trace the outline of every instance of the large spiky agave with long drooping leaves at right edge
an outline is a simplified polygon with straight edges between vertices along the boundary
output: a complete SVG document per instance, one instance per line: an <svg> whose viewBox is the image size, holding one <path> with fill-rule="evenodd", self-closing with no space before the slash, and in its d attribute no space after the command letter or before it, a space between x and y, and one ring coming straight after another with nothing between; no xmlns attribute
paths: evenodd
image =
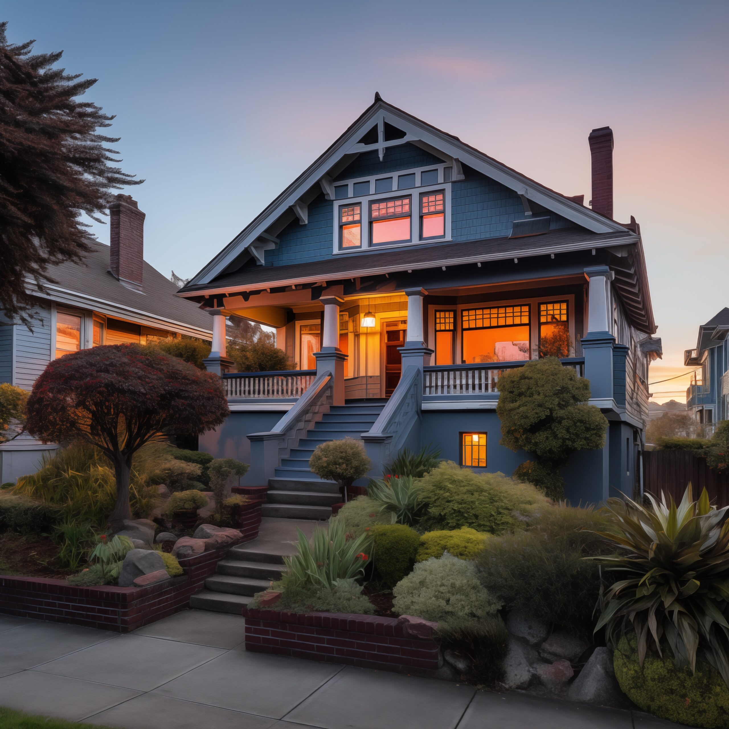
<svg viewBox="0 0 729 729"><path fill-rule="evenodd" d="M697 655L729 685L729 521L691 485L679 506L648 495L652 509L631 499L608 499L612 524L598 532L617 554L593 557L622 579L604 596L596 630L616 646L635 631L642 666L647 650L661 655L665 638L676 665L695 671Z"/></svg>

